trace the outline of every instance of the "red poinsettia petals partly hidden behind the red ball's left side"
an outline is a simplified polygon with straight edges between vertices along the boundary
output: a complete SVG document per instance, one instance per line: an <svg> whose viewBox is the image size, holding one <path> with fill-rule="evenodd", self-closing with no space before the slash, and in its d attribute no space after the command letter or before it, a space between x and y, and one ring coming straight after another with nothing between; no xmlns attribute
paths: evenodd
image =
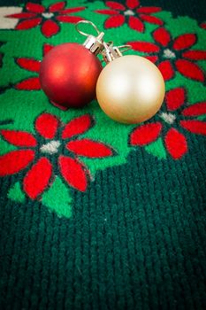
<svg viewBox="0 0 206 310"><path fill-rule="evenodd" d="M53 45L44 44L43 45L43 56L48 53L53 48ZM16 58L16 63L23 69L31 71L37 75L28 77L23 81L19 81L16 85L14 85L15 89L19 90L39 90L41 89L40 81L39 81L39 71L41 60L37 60L34 58Z"/></svg>

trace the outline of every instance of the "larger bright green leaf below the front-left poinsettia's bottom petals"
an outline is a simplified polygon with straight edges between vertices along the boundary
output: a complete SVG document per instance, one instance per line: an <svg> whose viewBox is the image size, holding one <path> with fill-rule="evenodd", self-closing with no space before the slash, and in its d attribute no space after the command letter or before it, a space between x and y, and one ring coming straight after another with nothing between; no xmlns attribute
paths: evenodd
<svg viewBox="0 0 206 310"><path fill-rule="evenodd" d="M72 198L65 183L58 177L56 177L50 189L42 195L42 204L59 216L65 216L66 218L72 216Z"/></svg>

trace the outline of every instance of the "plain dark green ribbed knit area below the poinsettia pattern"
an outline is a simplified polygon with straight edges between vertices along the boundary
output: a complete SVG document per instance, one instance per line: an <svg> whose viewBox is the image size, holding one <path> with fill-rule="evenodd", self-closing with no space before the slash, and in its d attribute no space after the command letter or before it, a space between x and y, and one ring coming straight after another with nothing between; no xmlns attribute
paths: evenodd
<svg viewBox="0 0 206 310"><path fill-rule="evenodd" d="M190 145L175 163L132 151L73 192L69 221L14 205L4 180L1 309L205 309L206 147Z"/></svg>

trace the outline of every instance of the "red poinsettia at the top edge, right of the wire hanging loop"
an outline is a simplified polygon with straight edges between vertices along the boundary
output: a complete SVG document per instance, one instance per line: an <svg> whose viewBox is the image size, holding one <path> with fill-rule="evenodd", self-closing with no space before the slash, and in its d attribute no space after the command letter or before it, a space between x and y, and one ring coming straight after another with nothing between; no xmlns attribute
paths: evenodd
<svg viewBox="0 0 206 310"><path fill-rule="evenodd" d="M144 22L151 24L163 25L163 21L152 13L160 12L162 9L156 6L142 7L138 0L126 0L126 4L119 4L115 1L106 1L109 10L97 10L100 14L110 15L110 18L105 21L104 27L119 27L125 22L129 27L136 31L144 31Z"/></svg>

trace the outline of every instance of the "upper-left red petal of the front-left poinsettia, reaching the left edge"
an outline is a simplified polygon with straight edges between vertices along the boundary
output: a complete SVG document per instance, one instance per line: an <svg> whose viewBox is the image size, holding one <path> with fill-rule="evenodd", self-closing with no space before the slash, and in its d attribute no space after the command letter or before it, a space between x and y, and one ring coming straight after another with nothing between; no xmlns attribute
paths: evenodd
<svg viewBox="0 0 206 310"><path fill-rule="evenodd" d="M36 146L37 142L33 135L17 130L3 129L0 130L4 140L16 146Z"/></svg>

